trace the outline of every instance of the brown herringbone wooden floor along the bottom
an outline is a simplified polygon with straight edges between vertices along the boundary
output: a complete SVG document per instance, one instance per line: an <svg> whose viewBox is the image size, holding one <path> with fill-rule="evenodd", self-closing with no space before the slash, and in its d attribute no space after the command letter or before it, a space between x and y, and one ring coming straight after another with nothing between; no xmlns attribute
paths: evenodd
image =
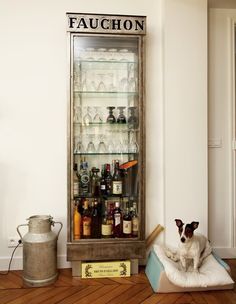
<svg viewBox="0 0 236 304"><path fill-rule="evenodd" d="M228 260L236 281L236 260ZM144 269L130 278L80 279L61 269L57 282L41 288L23 286L21 271L0 275L0 304L236 304L236 287L230 291L155 294Z"/></svg>

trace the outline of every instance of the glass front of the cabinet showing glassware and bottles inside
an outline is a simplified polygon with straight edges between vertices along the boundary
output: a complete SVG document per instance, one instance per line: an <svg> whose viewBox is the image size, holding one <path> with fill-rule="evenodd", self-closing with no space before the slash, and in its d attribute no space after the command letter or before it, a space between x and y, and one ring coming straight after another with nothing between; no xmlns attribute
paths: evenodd
<svg viewBox="0 0 236 304"><path fill-rule="evenodd" d="M72 242L140 237L140 52L137 36L71 36Z"/></svg>

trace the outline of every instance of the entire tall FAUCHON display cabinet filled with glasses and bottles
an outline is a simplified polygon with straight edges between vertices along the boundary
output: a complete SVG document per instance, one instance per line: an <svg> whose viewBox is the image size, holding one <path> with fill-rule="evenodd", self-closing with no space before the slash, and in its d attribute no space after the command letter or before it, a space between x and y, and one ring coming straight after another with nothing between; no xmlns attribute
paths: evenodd
<svg viewBox="0 0 236 304"><path fill-rule="evenodd" d="M145 258L146 18L67 14L68 242L82 261Z"/></svg>

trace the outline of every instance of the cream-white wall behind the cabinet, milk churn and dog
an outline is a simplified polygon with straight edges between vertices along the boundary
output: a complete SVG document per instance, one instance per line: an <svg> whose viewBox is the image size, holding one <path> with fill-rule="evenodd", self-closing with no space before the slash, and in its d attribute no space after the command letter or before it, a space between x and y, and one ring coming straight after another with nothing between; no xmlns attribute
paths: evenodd
<svg viewBox="0 0 236 304"><path fill-rule="evenodd" d="M176 217L206 231L206 1L2 0L0 269L8 237L33 214L63 222L59 266L68 266L66 12L147 15L146 234L160 223L174 244Z"/></svg>

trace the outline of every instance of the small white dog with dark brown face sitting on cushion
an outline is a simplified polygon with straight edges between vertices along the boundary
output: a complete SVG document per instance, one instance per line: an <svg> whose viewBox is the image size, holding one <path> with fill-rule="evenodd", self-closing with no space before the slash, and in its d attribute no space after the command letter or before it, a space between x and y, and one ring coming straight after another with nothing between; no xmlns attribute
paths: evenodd
<svg viewBox="0 0 236 304"><path fill-rule="evenodd" d="M180 260L184 271L187 271L188 266L193 262L193 270L198 272L202 261L211 254L210 243L204 235L194 233L199 222L184 224L180 219L176 219L175 222L179 228L180 235L178 252L170 254L168 250L167 256L174 261Z"/></svg>

